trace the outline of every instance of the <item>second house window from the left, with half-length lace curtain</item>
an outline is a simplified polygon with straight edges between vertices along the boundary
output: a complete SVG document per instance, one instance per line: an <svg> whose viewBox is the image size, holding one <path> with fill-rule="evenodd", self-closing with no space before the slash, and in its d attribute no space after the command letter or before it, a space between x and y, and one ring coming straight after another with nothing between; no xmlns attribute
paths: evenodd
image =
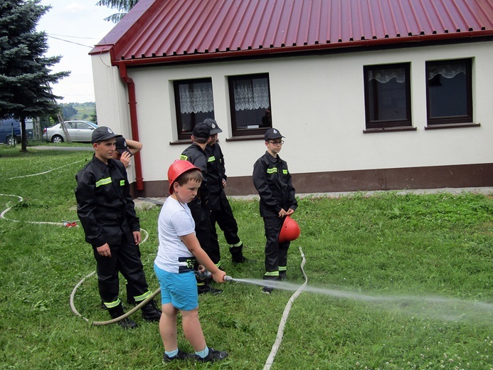
<svg viewBox="0 0 493 370"><path fill-rule="evenodd" d="M272 127L269 75L228 78L233 136L264 134Z"/></svg>

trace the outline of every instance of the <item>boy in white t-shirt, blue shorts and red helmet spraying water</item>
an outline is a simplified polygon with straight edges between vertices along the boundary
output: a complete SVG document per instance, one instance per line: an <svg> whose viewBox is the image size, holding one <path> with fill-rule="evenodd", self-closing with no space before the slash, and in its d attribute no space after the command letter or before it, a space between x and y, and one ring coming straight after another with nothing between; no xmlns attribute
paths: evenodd
<svg viewBox="0 0 493 370"><path fill-rule="evenodd" d="M187 206L197 195L202 174L191 162L176 160L168 169L169 194L158 219L159 249L154 260L154 272L161 285L161 320L159 332L164 344L163 361L196 359L213 362L226 359L228 352L207 347L201 323L198 320L198 292L194 273L207 269L216 282L224 282L226 273L208 257L195 236L195 222ZM195 354L178 349L176 317L181 312L186 339Z"/></svg>

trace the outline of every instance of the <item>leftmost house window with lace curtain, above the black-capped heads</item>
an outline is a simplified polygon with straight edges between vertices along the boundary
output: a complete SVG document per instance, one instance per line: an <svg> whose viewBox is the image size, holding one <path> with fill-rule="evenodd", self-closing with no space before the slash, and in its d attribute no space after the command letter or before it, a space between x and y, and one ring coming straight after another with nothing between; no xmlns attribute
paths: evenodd
<svg viewBox="0 0 493 370"><path fill-rule="evenodd" d="M211 78L174 81L178 139L190 139L197 123L214 118Z"/></svg>

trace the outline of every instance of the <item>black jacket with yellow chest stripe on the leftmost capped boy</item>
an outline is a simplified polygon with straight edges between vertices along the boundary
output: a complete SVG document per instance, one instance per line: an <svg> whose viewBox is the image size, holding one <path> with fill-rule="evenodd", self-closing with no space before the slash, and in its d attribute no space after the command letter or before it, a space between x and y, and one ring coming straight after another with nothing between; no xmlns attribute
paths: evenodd
<svg viewBox="0 0 493 370"><path fill-rule="evenodd" d="M119 244L123 236L133 240L132 231L139 231L140 224L122 162L110 159L106 165L94 155L75 179L77 214L85 241L97 248Z"/></svg>

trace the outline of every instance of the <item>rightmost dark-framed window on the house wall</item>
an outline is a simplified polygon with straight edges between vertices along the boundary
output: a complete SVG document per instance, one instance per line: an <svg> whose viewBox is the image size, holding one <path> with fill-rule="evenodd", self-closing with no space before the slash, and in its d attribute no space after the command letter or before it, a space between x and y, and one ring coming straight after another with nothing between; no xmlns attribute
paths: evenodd
<svg viewBox="0 0 493 370"><path fill-rule="evenodd" d="M426 62L428 125L472 123L471 60Z"/></svg>

